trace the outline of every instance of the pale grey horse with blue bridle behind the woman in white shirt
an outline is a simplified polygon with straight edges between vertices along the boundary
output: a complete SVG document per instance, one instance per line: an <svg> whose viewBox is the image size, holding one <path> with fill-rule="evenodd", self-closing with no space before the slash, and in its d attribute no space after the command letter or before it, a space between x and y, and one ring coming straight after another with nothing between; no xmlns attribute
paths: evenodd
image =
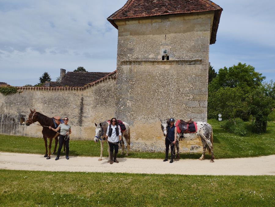
<svg viewBox="0 0 275 207"><path fill-rule="evenodd" d="M96 125L94 142L97 143L98 140L100 140L101 151L100 151L100 158L98 159L98 161L101 161L104 142L107 142L107 144L108 144L107 139L103 140L103 138L106 135L106 131L107 131L107 127L109 126L109 123L101 122L101 123L99 123L99 125L97 125L96 123L94 123L94 124ZM124 137L127 142L127 153L125 154L125 156L128 156L129 151L130 151L130 128L129 128L129 124L127 124L126 122L123 122L123 124L125 125L126 130L125 130L125 132L122 133L123 136L122 136L121 155L123 155L123 153L124 153L124 141L123 141L123 137ZM110 161L110 146L109 146L109 144L108 144L108 154L109 154L108 161Z"/></svg>

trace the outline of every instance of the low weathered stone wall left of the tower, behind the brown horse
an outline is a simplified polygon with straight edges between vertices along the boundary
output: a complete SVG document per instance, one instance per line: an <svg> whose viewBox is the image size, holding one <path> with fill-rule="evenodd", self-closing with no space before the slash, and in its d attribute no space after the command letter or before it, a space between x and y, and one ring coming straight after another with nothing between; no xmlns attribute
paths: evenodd
<svg viewBox="0 0 275 207"><path fill-rule="evenodd" d="M115 74L116 75L116 74ZM4 96L0 93L0 133L42 137L42 127L20 125L27 120L30 109L48 116L68 117L72 139L94 139L95 122L114 116L116 77L110 77L84 89L26 88L20 93Z"/></svg>

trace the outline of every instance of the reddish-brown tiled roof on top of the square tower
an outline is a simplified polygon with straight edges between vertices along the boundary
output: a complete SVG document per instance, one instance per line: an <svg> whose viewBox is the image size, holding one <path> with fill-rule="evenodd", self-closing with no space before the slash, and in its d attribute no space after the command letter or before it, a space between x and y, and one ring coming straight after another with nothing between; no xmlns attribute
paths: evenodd
<svg viewBox="0 0 275 207"><path fill-rule="evenodd" d="M116 28L114 20L214 11L214 23L210 44L216 42L222 8L209 0L128 0L126 4L107 18Z"/></svg>

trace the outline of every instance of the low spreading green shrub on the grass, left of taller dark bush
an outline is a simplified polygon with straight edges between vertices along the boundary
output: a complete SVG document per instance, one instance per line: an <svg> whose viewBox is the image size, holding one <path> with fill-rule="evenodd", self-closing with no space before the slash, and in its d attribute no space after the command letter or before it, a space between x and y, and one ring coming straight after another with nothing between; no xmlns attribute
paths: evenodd
<svg viewBox="0 0 275 207"><path fill-rule="evenodd" d="M248 134L244 121L240 118L236 118L235 120L225 120L221 123L221 127L231 133L238 134L240 136L246 136Z"/></svg>

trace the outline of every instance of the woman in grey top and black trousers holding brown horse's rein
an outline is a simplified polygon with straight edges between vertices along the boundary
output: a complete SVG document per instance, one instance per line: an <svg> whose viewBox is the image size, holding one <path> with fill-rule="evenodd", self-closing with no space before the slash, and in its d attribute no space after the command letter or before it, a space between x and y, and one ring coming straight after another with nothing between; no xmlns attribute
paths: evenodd
<svg viewBox="0 0 275 207"><path fill-rule="evenodd" d="M68 117L64 118L64 124L60 124L56 129L53 129L52 127L49 127L50 129L52 129L53 131L58 132L58 130L60 129L60 135L59 135L59 146L58 146L58 150L57 150L57 157L55 158L55 160L59 159L60 156L60 152L61 152L61 148L62 145L65 141L65 146L66 146L66 159L69 159L69 134L71 134L71 126L68 125Z"/></svg>

